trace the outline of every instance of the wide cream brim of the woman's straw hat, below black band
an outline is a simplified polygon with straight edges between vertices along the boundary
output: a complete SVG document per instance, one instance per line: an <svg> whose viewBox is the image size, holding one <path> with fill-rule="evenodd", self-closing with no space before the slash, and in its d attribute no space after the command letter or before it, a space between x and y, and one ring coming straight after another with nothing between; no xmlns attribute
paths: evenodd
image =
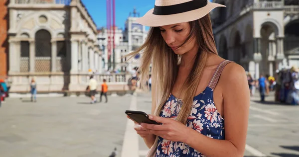
<svg viewBox="0 0 299 157"><path fill-rule="evenodd" d="M216 7L226 7L225 5L208 2L206 6L177 14L171 15L155 15L152 14L153 8L150 9L143 17L140 17L136 20L136 22L150 27L159 27L170 24L189 22L197 20L206 14L208 14L212 9Z"/></svg>

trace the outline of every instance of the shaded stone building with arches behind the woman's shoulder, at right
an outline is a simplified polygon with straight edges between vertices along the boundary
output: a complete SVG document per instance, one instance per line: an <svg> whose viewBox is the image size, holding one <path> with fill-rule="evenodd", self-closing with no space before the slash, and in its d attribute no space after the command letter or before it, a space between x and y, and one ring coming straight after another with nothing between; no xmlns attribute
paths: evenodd
<svg viewBox="0 0 299 157"><path fill-rule="evenodd" d="M218 53L251 73L274 76L299 66L298 0L213 0L227 7L211 13Z"/></svg>

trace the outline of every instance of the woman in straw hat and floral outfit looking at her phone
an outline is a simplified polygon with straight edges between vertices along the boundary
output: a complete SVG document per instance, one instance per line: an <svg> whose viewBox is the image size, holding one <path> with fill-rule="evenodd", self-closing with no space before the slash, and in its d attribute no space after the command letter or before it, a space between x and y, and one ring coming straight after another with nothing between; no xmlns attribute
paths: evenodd
<svg viewBox="0 0 299 157"><path fill-rule="evenodd" d="M150 148L148 157L243 157L250 94L245 70L218 56L207 0L156 0L137 19L150 26L143 51L141 84L152 64L149 118L135 122ZM225 120L224 120L225 119ZM225 126L225 129L224 129Z"/></svg>

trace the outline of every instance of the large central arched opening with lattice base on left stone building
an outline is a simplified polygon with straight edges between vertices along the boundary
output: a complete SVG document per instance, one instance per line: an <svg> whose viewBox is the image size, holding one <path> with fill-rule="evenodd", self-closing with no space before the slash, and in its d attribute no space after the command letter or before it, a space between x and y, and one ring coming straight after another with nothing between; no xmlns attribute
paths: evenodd
<svg viewBox="0 0 299 157"><path fill-rule="evenodd" d="M51 71L51 34L41 29L35 33L35 72Z"/></svg>

